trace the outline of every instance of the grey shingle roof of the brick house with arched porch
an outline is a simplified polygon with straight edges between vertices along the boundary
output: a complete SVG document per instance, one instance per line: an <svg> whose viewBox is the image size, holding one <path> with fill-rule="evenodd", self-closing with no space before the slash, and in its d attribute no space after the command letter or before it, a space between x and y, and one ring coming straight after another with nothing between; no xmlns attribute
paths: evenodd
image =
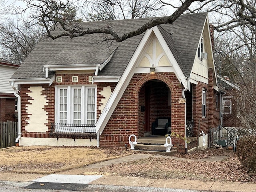
<svg viewBox="0 0 256 192"><path fill-rule="evenodd" d="M207 13L185 14L173 24L159 27L170 50L174 54L185 76L190 74L200 35ZM87 28L110 26L118 34L136 30L152 18L83 22ZM12 79L45 78L44 65L101 64L112 54L110 62L99 72L99 76L121 76L130 58L134 54L143 34L129 38L124 42L107 42L104 34L90 34L70 39L61 37L56 40L41 40Z"/></svg>

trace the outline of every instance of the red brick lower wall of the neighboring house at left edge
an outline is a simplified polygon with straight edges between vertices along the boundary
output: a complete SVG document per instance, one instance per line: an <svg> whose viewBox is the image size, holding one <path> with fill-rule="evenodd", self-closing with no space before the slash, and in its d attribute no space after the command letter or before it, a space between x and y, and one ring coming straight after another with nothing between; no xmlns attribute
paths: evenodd
<svg viewBox="0 0 256 192"><path fill-rule="evenodd" d="M14 121L15 99L0 98L0 121Z"/></svg>

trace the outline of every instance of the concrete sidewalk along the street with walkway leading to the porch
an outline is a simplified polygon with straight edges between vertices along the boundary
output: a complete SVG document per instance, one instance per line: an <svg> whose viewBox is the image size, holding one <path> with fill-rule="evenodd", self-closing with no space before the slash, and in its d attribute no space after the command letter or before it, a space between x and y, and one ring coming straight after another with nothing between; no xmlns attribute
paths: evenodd
<svg viewBox="0 0 256 192"><path fill-rule="evenodd" d="M86 166L86 168L96 169L104 166L130 162L154 156L155 158L166 158L166 156L152 154L132 154L129 156L99 162ZM175 157L168 157L174 158ZM206 161L220 161L225 156L216 156L207 158ZM185 159L183 159L185 160ZM190 161L190 160L188 160ZM200 180L180 180L180 179L148 179L129 176L89 176L80 175L84 172L83 168L68 170L53 175L40 174L14 174L1 173L0 180L9 178L12 181L20 182L71 182L75 184L95 184L95 185L113 185L113 186L135 186L135 187L154 187L154 188L174 188L174 189L191 189L205 191L225 191L225 192L256 192L256 183L239 183L239 182L205 182ZM76 173L76 175L74 175Z"/></svg>

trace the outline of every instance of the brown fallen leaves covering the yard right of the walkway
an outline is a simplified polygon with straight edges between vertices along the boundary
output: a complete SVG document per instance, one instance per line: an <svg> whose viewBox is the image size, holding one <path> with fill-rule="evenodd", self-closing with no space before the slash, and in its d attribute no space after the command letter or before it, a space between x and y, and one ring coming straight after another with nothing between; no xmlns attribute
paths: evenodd
<svg viewBox="0 0 256 192"><path fill-rule="evenodd" d="M116 164L100 168L106 174L115 172L120 176L143 178L169 178L204 181L256 182L256 175L248 174L241 166L236 153L228 150L196 151L185 154L185 158L200 159L226 155L220 162L186 161L170 158L146 158L139 161ZM182 157L183 154L177 154Z"/></svg>

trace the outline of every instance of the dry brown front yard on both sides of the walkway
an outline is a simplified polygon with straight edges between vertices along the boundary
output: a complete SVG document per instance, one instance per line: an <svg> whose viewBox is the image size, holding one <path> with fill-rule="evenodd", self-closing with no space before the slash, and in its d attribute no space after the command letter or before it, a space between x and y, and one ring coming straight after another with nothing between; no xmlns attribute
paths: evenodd
<svg viewBox="0 0 256 192"><path fill-rule="evenodd" d="M150 157L139 161L89 169L87 165L132 152L124 149L87 147L14 147L0 151L0 173L52 174L71 170L76 174L135 176L142 178L172 178L204 181L256 182L256 174L249 174L241 166L236 153L226 149L176 154L184 158ZM212 156L227 156L220 162L198 161ZM78 169L80 168L80 169ZM81 172L82 170L82 172Z"/></svg>

